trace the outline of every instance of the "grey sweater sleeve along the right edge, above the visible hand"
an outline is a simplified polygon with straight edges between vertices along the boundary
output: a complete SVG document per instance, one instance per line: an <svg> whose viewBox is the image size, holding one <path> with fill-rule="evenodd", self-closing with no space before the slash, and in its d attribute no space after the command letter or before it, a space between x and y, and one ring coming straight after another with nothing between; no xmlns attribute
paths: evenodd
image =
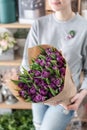
<svg viewBox="0 0 87 130"><path fill-rule="evenodd" d="M82 70L84 73L83 82L80 89L87 89L87 37L82 46Z"/></svg>

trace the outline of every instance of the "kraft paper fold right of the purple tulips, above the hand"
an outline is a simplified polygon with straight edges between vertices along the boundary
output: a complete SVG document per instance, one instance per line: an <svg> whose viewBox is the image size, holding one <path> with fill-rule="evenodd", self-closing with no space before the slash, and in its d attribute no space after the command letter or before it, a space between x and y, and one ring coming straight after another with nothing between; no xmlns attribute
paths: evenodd
<svg viewBox="0 0 87 130"><path fill-rule="evenodd" d="M63 102L65 105L69 105L71 102L71 98L76 94L76 87L71 78L70 71L68 65L66 67L66 75L65 75L65 82L63 90L55 97L48 99L44 103L46 104L58 104Z"/></svg>

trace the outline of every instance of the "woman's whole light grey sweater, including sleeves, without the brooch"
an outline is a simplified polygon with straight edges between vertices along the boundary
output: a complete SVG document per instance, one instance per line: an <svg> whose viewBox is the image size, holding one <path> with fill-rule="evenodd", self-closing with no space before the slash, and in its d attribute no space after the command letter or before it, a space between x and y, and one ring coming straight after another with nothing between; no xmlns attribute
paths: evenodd
<svg viewBox="0 0 87 130"><path fill-rule="evenodd" d="M75 36L66 39L71 30L75 32ZM62 50L77 89L80 86L82 70L85 76L80 88L87 89L87 21L83 17L76 14L70 20L59 21L53 13L36 20L28 34L21 64L27 70L28 48L38 44L50 44Z"/></svg>

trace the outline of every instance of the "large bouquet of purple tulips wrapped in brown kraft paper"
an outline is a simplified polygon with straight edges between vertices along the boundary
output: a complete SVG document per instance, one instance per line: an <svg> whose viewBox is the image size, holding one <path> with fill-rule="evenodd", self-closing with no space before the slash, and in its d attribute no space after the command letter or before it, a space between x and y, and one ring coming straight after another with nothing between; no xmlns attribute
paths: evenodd
<svg viewBox="0 0 87 130"><path fill-rule="evenodd" d="M69 103L76 87L61 52L49 45L29 48L29 64L30 70L23 68L18 79L12 80L19 99L35 103Z"/></svg>

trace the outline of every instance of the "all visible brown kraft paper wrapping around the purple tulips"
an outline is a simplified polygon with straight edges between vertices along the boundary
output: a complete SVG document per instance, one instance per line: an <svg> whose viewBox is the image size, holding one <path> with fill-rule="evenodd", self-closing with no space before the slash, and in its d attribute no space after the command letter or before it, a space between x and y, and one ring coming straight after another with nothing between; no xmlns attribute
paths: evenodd
<svg viewBox="0 0 87 130"><path fill-rule="evenodd" d="M42 48L46 49L49 47L52 47L50 45L41 45ZM28 55L29 55L29 64L31 64L31 59L32 58L36 58L39 54L40 54L40 49L38 46L32 47L28 49ZM16 80L17 77L14 78L14 80ZM15 85L13 82L8 81L8 86L10 91L13 93L13 95L19 100L19 101L24 101L23 98L18 97L18 92L16 90L19 90L20 88ZM71 74L70 74L70 70L69 67L67 65L66 67L66 74L65 74L65 81L64 81L64 88L63 90L55 97L52 97L46 101L44 101L44 104L51 104L54 105L55 103L63 103L64 105L68 105L70 104L70 100L71 98L76 94L76 86L72 80Z"/></svg>

